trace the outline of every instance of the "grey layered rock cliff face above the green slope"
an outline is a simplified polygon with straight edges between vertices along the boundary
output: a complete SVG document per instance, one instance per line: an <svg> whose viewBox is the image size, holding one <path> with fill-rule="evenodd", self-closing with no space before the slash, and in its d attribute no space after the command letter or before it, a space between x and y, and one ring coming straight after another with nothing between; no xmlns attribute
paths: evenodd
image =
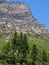
<svg viewBox="0 0 49 65"><path fill-rule="evenodd" d="M0 4L0 31L10 33L14 30L18 32L29 32L43 34L48 37L49 30L40 24L31 15L29 7L24 3L1 3Z"/></svg>

